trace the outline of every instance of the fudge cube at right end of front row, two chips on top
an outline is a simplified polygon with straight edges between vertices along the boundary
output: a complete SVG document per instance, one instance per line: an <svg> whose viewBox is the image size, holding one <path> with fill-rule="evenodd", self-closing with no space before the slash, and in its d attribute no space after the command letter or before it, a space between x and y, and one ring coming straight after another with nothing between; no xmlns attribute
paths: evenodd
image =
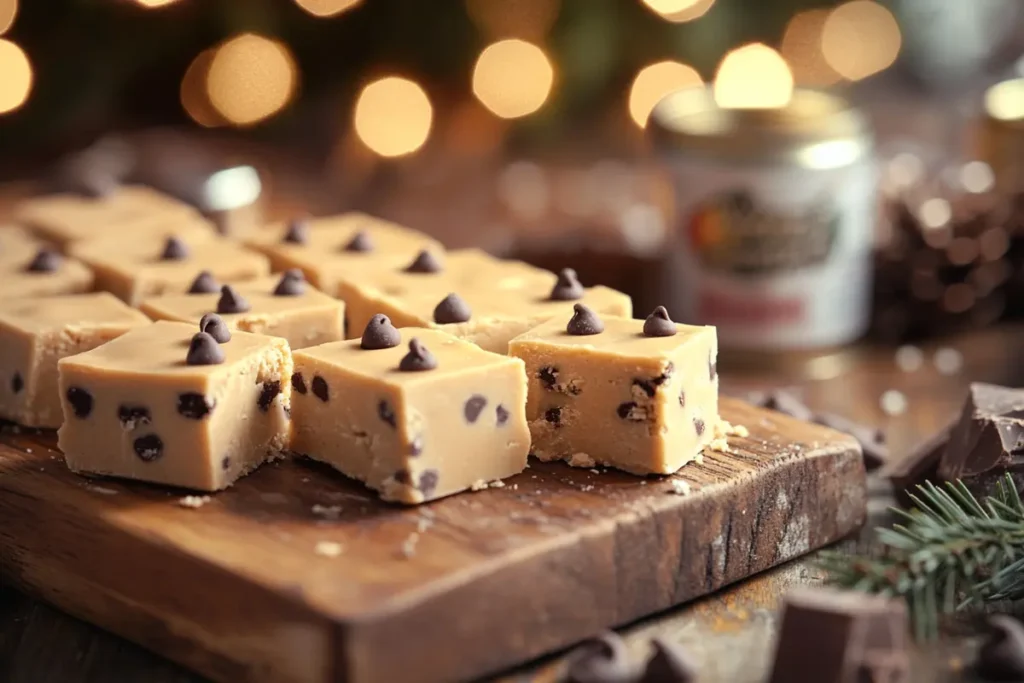
<svg viewBox="0 0 1024 683"><path fill-rule="evenodd" d="M577 304L516 337L509 353L529 378L534 455L577 467L668 474L696 458L718 424L713 327L646 321Z"/></svg>

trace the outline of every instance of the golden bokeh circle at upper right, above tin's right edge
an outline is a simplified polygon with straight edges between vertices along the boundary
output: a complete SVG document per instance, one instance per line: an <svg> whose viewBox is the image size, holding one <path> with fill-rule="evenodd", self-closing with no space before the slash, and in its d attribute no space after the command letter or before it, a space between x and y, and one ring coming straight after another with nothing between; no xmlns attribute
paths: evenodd
<svg viewBox="0 0 1024 683"><path fill-rule="evenodd" d="M896 17L872 0L853 0L840 5L825 19L821 32L825 61L851 81L892 66L901 43Z"/></svg>

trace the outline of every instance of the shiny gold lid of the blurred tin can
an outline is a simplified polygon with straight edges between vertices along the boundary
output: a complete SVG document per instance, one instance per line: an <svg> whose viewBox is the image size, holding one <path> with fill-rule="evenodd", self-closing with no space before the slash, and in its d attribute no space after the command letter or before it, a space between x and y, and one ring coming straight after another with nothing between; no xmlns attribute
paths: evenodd
<svg viewBox="0 0 1024 683"><path fill-rule="evenodd" d="M654 106L648 133L659 150L812 169L848 166L872 142L867 120L848 101L805 89L785 106L725 109L710 88L684 88Z"/></svg>

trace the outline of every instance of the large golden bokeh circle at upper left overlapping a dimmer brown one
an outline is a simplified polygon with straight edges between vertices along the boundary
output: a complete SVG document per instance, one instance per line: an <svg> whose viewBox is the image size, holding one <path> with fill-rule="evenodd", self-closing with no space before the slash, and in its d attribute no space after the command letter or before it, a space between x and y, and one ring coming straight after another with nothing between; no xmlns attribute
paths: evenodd
<svg viewBox="0 0 1024 683"><path fill-rule="evenodd" d="M298 82L286 45L247 33L216 48L206 77L213 108L229 123L250 126L285 108Z"/></svg>

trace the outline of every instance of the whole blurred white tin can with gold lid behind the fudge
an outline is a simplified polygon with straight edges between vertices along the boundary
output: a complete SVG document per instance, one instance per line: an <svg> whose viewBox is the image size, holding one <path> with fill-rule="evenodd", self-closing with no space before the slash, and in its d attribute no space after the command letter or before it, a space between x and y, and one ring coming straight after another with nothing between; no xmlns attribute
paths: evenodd
<svg viewBox="0 0 1024 683"><path fill-rule="evenodd" d="M709 89L655 106L676 216L667 304L723 349L804 351L867 329L877 164L864 117L796 90L784 108L723 109Z"/></svg>

